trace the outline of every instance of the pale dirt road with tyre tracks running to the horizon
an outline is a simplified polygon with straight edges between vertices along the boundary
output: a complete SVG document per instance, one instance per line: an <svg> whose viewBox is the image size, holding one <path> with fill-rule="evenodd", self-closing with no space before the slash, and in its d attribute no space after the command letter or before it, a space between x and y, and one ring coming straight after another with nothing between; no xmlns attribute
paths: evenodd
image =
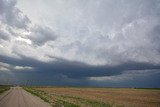
<svg viewBox="0 0 160 107"><path fill-rule="evenodd" d="M12 87L0 96L0 107L51 107L21 87Z"/></svg>

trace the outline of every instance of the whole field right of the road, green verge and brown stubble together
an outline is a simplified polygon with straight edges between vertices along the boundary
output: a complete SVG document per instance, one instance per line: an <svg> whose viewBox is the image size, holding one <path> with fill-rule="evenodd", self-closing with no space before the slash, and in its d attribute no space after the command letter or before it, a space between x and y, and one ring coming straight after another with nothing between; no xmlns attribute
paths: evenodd
<svg viewBox="0 0 160 107"><path fill-rule="evenodd" d="M132 88L25 88L53 107L160 107L160 90Z"/></svg>

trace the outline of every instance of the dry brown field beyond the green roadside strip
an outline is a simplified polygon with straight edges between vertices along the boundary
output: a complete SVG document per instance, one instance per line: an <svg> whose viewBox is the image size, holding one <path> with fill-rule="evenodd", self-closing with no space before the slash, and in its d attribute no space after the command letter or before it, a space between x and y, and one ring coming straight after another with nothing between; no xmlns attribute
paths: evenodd
<svg viewBox="0 0 160 107"><path fill-rule="evenodd" d="M127 88L34 88L60 97L82 107L97 102L118 107L160 107L160 90ZM96 103L91 101L97 101ZM88 102L88 103L87 103ZM83 104L84 103L84 104ZM93 105L90 105L93 103ZM96 107L96 106L95 106Z"/></svg>

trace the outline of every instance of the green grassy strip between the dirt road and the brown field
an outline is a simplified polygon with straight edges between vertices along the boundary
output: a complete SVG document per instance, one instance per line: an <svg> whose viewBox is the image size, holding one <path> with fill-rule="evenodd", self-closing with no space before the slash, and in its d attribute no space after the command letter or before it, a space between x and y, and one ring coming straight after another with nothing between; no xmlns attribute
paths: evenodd
<svg viewBox="0 0 160 107"><path fill-rule="evenodd" d="M45 91L29 87L25 87L24 89L50 103L52 107L111 107L109 104L104 102L84 99L76 96L46 93Z"/></svg>

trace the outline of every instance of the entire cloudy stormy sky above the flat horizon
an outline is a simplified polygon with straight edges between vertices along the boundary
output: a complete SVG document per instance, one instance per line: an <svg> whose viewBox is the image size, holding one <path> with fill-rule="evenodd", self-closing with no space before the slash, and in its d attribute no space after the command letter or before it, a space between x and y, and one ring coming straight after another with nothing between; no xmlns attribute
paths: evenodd
<svg viewBox="0 0 160 107"><path fill-rule="evenodd" d="M160 0L0 0L0 84L160 87Z"/></svg>

